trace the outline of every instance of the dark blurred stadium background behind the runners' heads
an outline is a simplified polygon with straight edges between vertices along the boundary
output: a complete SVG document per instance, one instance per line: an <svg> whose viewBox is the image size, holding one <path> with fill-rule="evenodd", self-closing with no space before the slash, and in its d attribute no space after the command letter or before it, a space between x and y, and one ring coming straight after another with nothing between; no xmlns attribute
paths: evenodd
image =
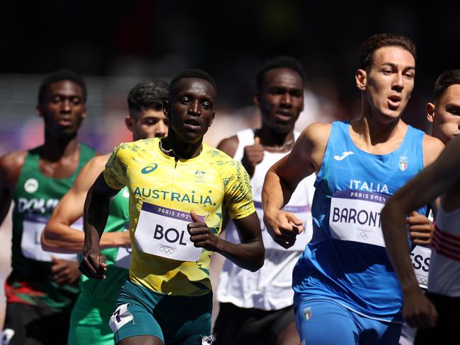
<svg viewBox="0 0 460 345"><path fill-rule="evenodd" d="M362 41L383 32L403 33L418 47L415 90L403 119L429 131L425 103L435 79L460 67L459 9L442 1L6 1L0 13L0 154L42 143L38 87L45 74L61 68L86 77L88 117L80 137L101 152L130 141L123 117L136 83L169 81L186 68L205 69L217 81L208 144L257 127L255 71L280 54L299 59L308 78L298 129L351 119L360 115L354 75ZM2 282L8 236L7 220L0 232ZM0 303L0 324L3 312Z"/></svg>

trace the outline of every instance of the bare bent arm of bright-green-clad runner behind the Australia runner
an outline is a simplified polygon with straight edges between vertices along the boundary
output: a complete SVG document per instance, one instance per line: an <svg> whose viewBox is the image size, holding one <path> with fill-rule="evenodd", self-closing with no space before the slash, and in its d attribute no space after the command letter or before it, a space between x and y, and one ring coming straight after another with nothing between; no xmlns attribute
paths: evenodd
<svg viewBox="0 0 460 345"><path fill-rule="evenodd" d="M91 159L76 177L74 185L59 201L42 232L42 248L51 252L79 253L83 251L84 233L71 225L83 216L86 193L103 171L108 156ZM128 247L130 236L125 232L103 233L100 248Z"/></svg>

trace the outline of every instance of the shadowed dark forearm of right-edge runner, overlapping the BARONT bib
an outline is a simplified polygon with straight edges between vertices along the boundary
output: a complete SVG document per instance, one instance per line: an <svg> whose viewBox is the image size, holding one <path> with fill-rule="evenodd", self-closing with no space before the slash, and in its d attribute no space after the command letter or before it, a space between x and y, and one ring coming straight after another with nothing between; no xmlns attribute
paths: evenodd
<svg viewBox="0 0 460 345"><path fill-rule="evenodd" d="M389 201L381 212L382 228L393 268L404 295L419 292L417 279L409 257L406 214L397 204Z"/></svg>

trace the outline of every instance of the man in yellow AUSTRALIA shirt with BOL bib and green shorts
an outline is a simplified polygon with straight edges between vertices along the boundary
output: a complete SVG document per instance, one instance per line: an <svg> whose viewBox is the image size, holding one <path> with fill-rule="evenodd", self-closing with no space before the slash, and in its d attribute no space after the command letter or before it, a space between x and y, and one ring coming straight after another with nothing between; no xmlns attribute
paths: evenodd
<svg viewBox="0 0 460 345"><path fill-rule="evenodd" d="M110 319L117 344L200 344L211 330L210 251L252 271L263 264L246 170L202 143L215 99L214 80L204 71L176 76L163 107L168 136L115 148L88 192L80 269L100 279L106 265L98 243L108 201L122 187L130 190L130 280ZM224 208L241 233L240 245L217 236Z"/></svg>

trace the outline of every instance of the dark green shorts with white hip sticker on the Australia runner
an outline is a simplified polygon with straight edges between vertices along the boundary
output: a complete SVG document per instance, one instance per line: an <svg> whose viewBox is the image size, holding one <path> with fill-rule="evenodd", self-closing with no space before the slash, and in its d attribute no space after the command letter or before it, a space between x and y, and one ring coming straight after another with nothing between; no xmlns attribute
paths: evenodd
<svg viewBox="0 0 460 345"><path fill-rule="evenodd" d="M201 345L211 334L212 292L204 296L171 296L126 281L110 317L115 344L152 335L168 345Z"/></svg>

